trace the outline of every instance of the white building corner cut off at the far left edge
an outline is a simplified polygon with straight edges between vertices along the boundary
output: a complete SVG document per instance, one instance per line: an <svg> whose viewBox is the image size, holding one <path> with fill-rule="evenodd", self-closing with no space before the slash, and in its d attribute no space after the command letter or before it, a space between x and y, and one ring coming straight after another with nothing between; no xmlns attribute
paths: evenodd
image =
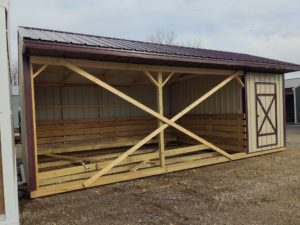
<svg viewBox="0 0 300 225"><path fill-rule="evenodd" d="M0 0L0 225L19 224L8 48L8 1Z"/></svg>

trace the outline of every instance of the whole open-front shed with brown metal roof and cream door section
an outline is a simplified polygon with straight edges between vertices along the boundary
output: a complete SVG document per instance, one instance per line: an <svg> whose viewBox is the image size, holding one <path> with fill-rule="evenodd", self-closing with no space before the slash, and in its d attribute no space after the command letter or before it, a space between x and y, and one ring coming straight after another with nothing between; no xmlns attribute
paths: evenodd
<svg viewBox="0 0 300 225"><path fill-rule="evenodd" d="M19 29L32 198L285 148L284 73L230 52Z"/></svg>

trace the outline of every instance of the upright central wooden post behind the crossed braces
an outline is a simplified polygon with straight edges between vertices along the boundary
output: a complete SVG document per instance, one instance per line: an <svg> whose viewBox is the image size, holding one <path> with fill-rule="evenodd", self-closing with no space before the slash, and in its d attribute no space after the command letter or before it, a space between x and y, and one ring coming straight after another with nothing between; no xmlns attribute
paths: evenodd
<svg viewBox="0 0 300 225"><path fill-rule="evenodd" d="M160 115L164 115L164 100L163 100L163 79L162 72L157 75L157 111ZM158 127L160 128L164 123L158 119ZM159 158L162 167L166 166L165 162L165 131L159 133Z"/></svg>

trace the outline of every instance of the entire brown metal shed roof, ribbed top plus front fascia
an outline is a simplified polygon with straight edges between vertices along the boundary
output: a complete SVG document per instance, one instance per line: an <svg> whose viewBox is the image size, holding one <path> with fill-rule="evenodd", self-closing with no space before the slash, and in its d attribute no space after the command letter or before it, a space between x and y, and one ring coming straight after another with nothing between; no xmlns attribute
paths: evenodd
<svg viewBox="0 0 300 225"><path fill-rule="evenodd" d="M32 54L43 54L42 51L48 50L50 55L56 55L57 53L60 56L73 56L77 58L80 57L80 54L75 54L77 49L77 53L81 53L82 55L89 53L89 58L93 58L92 55L113 55L114 57L105 57L104 59L124 62L125 58L127 58L126 62L129 61L131 63L195 67L213 67L215 65L218 68L236 67L247 70L278 72L300 70L300 65L225 51L162 45L29 27L20 27L19 35L24 40L25 48L31 49ZM68 51L73 55L68 55ZM143 61L136 61L138 59L143 59ZM177 64L172 64L172 62L176 62Z"/></svg>

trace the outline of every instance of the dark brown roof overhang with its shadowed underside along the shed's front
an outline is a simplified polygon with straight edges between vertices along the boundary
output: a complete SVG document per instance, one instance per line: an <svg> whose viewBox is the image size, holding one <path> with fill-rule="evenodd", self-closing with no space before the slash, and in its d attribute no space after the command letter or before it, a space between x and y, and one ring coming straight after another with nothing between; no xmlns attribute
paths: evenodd
<svg viewBox="0 0 300 225"><path fill-rule="evenodd" d="M191 56L174 56L144 53L86 45L65 44L41 40L24 39L23 53L36 56L65 57L75 59L101 60L108 62L164 65L175 67L237 69L244 71L288 73L300 71L298 65L266 64L248 61L208 59Z"/></svg>

